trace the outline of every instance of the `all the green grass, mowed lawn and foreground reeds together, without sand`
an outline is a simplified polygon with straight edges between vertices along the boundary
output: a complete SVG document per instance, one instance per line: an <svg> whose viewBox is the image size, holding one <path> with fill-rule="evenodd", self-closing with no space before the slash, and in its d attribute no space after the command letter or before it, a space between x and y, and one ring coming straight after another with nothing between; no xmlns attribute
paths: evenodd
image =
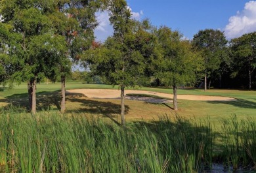
<svg viewBox="0 0 256 173"><path fill-rule="evenodd" d="M200 172L212 162L227 168L255 168L255 91L179 89L179 94L235 97L238 101L179 100L178 112L171 104L127 100L128 125L122 129L117 99L69 94L67 114L60 116L59 87L37 85L37 109L41 111L34 117L26 114L26 84L0 91L0 171ZM164 88L140 89L171 93ZM236 116L230 118L232 114Z"/></svg>

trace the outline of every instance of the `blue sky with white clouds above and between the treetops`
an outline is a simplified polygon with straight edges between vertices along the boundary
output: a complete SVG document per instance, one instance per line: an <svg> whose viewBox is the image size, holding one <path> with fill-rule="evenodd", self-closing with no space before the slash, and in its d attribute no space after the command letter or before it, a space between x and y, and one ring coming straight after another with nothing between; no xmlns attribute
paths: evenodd
<svg viewBox="0 0 256 173"><path fill-rule="evenodd" d="M227 39L256 31L256 1L245 0L127 0L137 20L150 19L192 39L200 29L220 29ZM107 13L100 13L97 40L112 35Z"/></svg>

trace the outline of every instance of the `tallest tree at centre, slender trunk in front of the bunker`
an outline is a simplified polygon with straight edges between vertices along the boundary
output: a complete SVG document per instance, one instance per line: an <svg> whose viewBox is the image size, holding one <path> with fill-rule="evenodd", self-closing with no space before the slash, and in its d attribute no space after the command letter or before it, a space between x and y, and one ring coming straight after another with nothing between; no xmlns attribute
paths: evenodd
<svg viewBox="0 0 256 173"><path fill-rule="evenodd" d="M108 84L121 89L121 125L125 126L125 87L142 86L148 59L154 52L154 35L148 32L148 22L131 19L124 0L110 2L110 22L114 36L104 44L85 52L91 72L102 76Z"/></svg>

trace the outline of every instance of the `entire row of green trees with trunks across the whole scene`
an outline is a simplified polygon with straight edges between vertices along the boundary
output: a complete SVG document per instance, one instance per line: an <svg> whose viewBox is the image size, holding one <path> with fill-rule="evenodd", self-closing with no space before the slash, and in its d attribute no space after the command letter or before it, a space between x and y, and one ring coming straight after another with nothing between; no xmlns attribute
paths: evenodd
<svg viewBox="0 0 256 173"><path fill-rule="evenodd" d="M255 35L226 40L219 30L205 29L184 39L169 27L155 27L149 20L132 18L125 0L3 0L0 2L0 82L28 82L30 110L36 111L36 84L44 78L60 80L61 112L65 111L65 82L72 63L81 62L106 84L121 90L124 118L125 87L254 88ZM95 13L107 10L114 34L96 42ZM86 77L86 76L85 76Z"/></svg>

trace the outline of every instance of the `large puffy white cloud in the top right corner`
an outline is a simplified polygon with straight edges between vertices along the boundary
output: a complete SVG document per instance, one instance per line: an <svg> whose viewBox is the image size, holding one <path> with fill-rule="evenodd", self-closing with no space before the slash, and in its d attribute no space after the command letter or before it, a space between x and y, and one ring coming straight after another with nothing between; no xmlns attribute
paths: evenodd
<svg viewBox="0 0 256 173"><path fill-rule="evenodd" d="M245 3L242 12L238 11L236 16L229 18L224 33L227 39L233 39L254 31L256 31L256 1L249 1Z"/></svg>

